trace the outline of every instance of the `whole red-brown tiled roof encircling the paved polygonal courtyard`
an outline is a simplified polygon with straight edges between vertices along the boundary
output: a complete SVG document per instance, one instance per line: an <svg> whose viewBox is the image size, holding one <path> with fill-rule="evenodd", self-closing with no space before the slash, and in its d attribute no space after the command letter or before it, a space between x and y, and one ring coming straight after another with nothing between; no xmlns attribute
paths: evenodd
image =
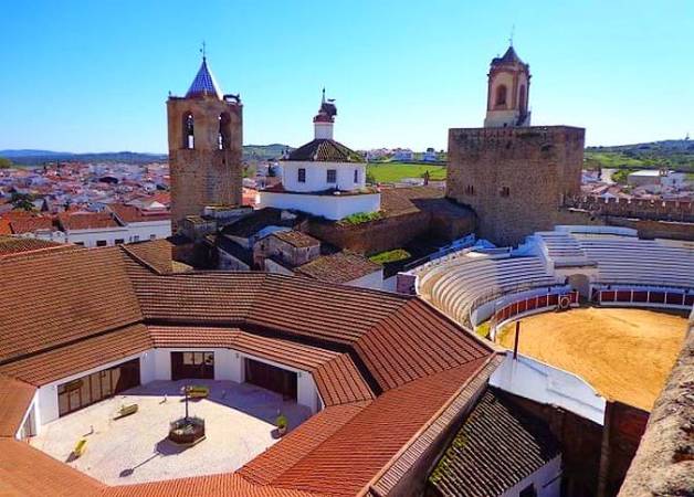
<svg viewBox="0 0 694 497"><path fill-rule="evenodd" d="M274 274L157 274L136 252L0 260L0 373L44 384L151 347L221 346L311 371L326 409L236 474L94 487L51 459L71 495L354 495L493 355L418 298ZM34 452L17 453L10 491L60 495L28 486L28 459L41 477L53 470Z"/></svg>

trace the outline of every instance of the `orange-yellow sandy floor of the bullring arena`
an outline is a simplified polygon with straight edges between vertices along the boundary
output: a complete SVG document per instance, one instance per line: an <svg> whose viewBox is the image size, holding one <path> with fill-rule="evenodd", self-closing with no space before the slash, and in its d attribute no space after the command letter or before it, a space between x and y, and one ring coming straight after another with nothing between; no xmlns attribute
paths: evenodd
<svg viewBox="0 0 694 497"><path fill-rule="evenodd" d="M518 351L570 371L601 395L651 411L677 357L687 320L642 309L586 307L520 322ZM508 349L515 322L497 341Z"/></svg>

